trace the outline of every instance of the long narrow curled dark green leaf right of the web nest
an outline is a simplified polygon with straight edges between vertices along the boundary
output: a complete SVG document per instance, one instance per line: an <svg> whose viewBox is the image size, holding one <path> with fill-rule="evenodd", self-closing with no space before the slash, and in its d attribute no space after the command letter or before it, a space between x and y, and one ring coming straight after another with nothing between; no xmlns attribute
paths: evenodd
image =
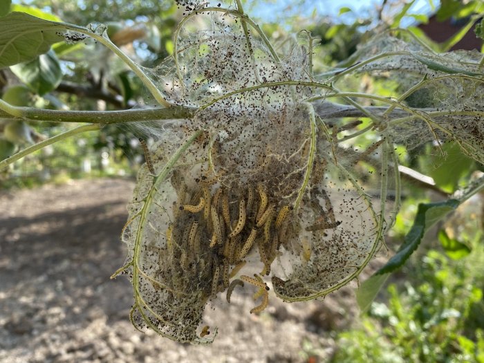
<svg viewBox="0 0 484 363"><path fill-rule="evenodd" d="M445 202L420 203L418 205L417 215L409 233L404 237L404 242L398 249L397 253L383 266L375 272L368 280L364 281L356 292L358 306L362 312L366 312L375 299L380 288L387 281L391 272L400 268L413 251L418 248L422 237L429 228L444 218L449 212L455 210L459 201L449 199Z"/></svg>

